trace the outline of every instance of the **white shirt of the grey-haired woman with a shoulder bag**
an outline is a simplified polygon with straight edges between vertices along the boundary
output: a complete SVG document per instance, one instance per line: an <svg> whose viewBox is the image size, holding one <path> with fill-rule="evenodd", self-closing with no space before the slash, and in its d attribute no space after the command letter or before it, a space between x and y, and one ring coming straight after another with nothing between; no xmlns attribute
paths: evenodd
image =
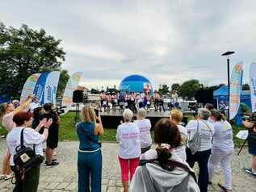
<svg viewBox="0 0 256 192"><path fill-rule="evenodd" d="M214 126L208 120L191 120L187 123L187 132L189 140L195 136L197 130L197 122L199 122L200 148L199 152L212 148L212 136L214 135Z"/></svg>

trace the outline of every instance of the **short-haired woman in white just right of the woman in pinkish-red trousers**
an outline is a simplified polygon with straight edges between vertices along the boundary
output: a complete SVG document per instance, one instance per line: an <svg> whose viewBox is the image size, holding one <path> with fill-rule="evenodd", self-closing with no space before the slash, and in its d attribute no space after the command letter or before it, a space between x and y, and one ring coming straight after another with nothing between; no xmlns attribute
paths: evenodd
<svg viewBox="0 0 256 192"><path fill-rule="evenodd" d="M144 108L139 109L137 119L134 121L140 130L141 153L148 151L152 144L150 135L151 123L149 119L145 119L146 113Z"/></svg>

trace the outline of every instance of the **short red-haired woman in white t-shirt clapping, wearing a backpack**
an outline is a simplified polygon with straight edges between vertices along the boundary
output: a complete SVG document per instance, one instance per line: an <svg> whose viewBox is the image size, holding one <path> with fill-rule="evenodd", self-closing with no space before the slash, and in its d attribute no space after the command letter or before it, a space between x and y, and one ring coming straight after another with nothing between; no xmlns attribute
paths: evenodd
<svg viewBox="0 0 256 192"><path fill-rule="evenodd" d="M10 168L15 173L15 189L14 191L21 192L36 192L39 184L40 177L40 165L37 165L34 168L31 168L29 172L21 174L19 170L16 169L14 163L14 156L16 154L15 148L20 145L20 134L23 130L23 144L26 147L33 148L35 145L36 155L43 156L43 142L48 137L48 127L52 123L52 119L49 119L46 122L46 119L40 122L40 126L36 130L29 128L32 123L32 115L29 112L19 112L17 113L13 121L15 122L16 127L14 127L6 137L6 143L10 151ZM43 122L43 123L42 123ZM40 134L38 131L41 127L44 127L43 134Z"/></svg>

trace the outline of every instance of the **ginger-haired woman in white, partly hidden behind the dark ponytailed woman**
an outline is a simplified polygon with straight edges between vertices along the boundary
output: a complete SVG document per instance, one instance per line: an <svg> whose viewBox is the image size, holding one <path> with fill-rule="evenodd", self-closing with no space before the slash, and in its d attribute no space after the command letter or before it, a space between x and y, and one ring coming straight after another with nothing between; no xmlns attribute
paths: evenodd
<svg viewBox="0 0 256 192"><path fill-rule="evenodd" d="M183 113L178 110L172 110L170 111L170 119L177 125L181 136L181 144L178 146L178 148L174 148L173 152L176 153L178 157L183 159L183 161L186 161L187 129L181 125Z"/></svg>

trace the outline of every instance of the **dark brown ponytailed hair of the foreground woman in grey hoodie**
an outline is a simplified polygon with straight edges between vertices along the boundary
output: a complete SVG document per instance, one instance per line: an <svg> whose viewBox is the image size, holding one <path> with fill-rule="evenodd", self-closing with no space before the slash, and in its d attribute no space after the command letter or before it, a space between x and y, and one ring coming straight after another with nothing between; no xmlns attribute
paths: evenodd
<svg viewBox="0 0 256 192"><path fill-rule="evenodd" d="M157 160L162 169L173 170L174 166L168 164L172 156L170 149L181 144L181 135L178 127L170 119L160 119L154 127L154 141L157 146Z"/></svg>

